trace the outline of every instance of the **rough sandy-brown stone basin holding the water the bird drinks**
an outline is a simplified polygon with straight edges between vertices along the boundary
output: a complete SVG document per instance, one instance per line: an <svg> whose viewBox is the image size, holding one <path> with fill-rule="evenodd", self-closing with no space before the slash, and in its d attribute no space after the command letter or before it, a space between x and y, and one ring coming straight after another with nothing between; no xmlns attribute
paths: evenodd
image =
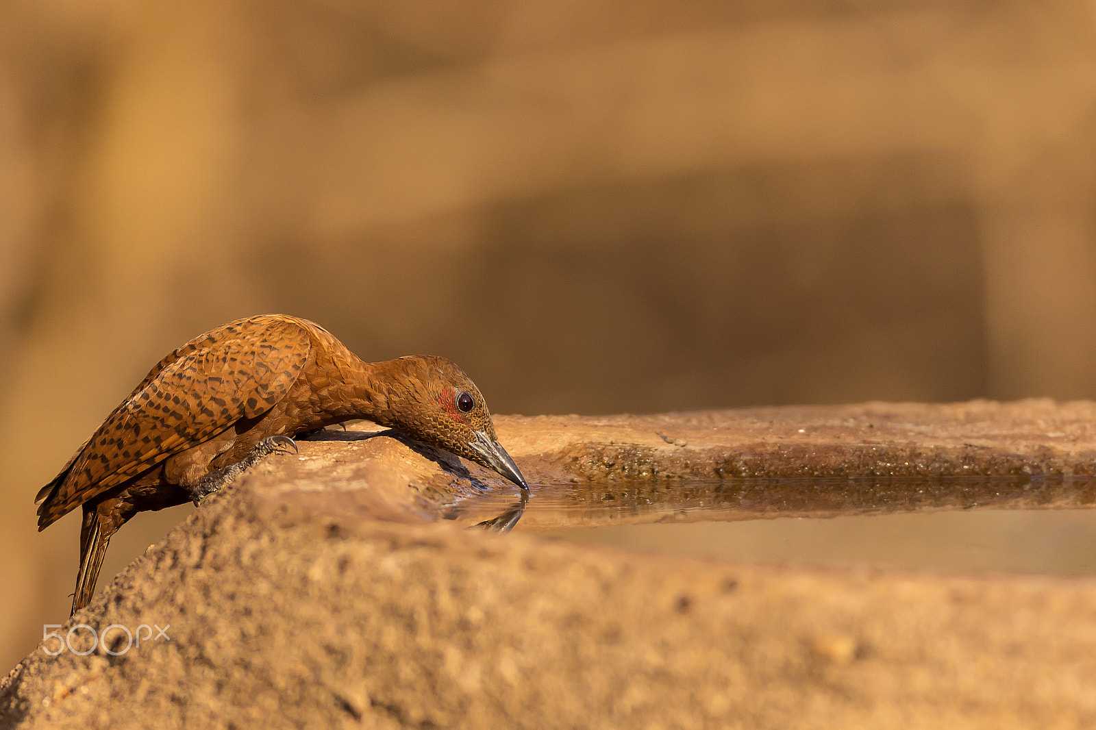
<svg viewBox="0 0 1096 730"><path fill-rule="evenodd" d="M1092 470L1094 417L1093 403L872 403L496 425L533 482L1037 474L1080 504L1087 482L1070 477ZM77 615L104 640L79 628L85 655L50 657L50 639L11 672L0 728L1096 722L1092 580L716 563L463 529L436 520L444 505L501 480L363 436L324 434L213 495ZM983 497L854 503L840 480L768 483L760 512ZM1000 499L1024 506L1028 492ZM112 624L150 636L135 646Z"/></svg>

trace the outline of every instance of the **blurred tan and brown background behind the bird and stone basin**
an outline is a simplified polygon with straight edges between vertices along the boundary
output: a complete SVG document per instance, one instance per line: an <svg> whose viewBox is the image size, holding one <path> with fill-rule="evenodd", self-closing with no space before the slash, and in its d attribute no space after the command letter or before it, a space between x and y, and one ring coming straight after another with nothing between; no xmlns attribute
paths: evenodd
<svg viewBox="0 0 1096 730"><path fill-rule="evenodd" d="M501 413L1096 396L1096 4L895 8L0 3L0 666L35 491L242 316Z"/></svg>

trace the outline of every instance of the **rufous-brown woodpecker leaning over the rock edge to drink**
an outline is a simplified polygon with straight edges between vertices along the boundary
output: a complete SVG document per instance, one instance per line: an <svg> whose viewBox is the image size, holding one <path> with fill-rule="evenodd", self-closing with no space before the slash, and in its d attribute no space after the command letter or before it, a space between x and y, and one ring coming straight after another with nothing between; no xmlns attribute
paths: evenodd
<svg viewBox="0 0 1096 730"><path fill-rule="evenodd" d="M72 613L111 536L231 481L289 436L368 419L498 471L527 494L483 396L443 357L365 363L315 322L263 315L194 338L153 367L35 500L38 531L83 505Z"/></svg>

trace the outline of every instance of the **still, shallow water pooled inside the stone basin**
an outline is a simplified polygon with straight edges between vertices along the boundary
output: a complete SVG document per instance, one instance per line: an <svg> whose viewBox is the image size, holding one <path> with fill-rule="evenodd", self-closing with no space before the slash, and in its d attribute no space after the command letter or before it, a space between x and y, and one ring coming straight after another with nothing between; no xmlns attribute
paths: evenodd
<svg viewBox="0 0 1096 730"><path fill-rule="evenodd" d="M716 560L1096 575L1094 489L1091 478L546 484L513 529ZM506 522L518 505L516 489L500 490L446 517Z"/></svg>

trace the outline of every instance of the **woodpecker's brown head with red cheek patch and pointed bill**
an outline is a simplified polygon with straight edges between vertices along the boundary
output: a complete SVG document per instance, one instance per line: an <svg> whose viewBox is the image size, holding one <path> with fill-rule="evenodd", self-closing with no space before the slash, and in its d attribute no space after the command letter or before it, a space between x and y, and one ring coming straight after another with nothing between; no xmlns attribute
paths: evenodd
<svg viewBox="0 0 1096 730"><path fill-rule="evenodd" d="M381 425L493 469L528 489L494 435L479 388L455 363L412 355L384 365L387 407L378 419Z"/></svg>

